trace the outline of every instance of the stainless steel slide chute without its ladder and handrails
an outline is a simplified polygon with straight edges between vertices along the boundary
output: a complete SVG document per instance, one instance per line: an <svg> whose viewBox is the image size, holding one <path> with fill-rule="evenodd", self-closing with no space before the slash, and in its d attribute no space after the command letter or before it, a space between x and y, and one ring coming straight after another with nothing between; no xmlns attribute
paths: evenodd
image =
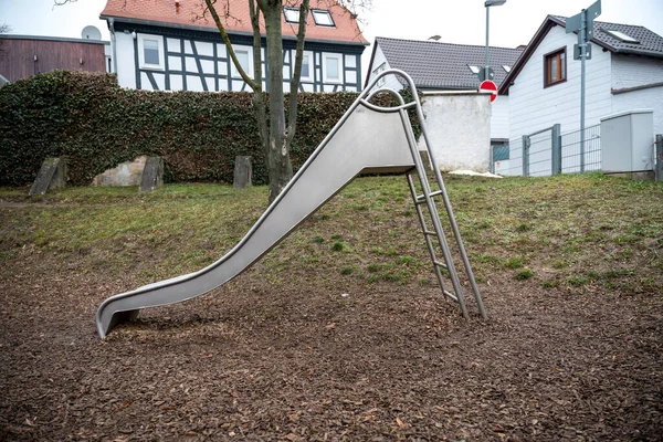
<svg viewBox="0 0 663 442"><path fill-rule="evenodd" d="M99 337L136 318L141 308L183 302L238 276L362 171L412 169L399 107L372 107L357 99L253 228L219 261L105 299L96 312Z"/></svg>

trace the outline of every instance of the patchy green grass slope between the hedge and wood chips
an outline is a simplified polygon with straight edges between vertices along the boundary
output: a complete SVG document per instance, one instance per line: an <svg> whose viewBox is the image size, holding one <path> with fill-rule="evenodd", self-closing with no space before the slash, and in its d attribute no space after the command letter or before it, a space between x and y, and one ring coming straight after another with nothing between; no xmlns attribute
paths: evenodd
<svg viewBox="0 0 663 442"><path fill-rule="evenodd" d="M530 280L573 293L663 293L663 186L601 175L502 180L449 177L477 281ZM30 248L144 283L198 270L264 210L265 188L171 185L73 188L45 197L0 189L1 277ZM266 278L334 287L434 283L402 177L354 181L267 254ZM296 280L295 280L296 281ZM657 299L661 301L661 299Z"/></svg>

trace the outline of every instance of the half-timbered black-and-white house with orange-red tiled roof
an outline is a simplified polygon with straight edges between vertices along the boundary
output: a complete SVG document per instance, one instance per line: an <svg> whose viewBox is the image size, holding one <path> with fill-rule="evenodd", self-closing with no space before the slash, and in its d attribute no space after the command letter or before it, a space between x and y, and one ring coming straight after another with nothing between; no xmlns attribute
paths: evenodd
<svg viewBox="0 0 663 442"><path fill-rule="evenodd" d="M246 91L212 18L200 0L108 0L114 72L120 86L149 91ZM296 2L293 2L296 4ZM228 7L228 11L225 11ZM253 32L246 0L217 2L245 72L253 74ZM284 82L294 70L297 8L283 9ZM264 33L263 33L264 35ZM361 90L361 53L368 42L356 17L335 1L312 0L307 17L301 91ZM262 48L266 76L265 41ZM263 80L265 90L269 84ZM290 87L288 84L284 85Z"/></svg>

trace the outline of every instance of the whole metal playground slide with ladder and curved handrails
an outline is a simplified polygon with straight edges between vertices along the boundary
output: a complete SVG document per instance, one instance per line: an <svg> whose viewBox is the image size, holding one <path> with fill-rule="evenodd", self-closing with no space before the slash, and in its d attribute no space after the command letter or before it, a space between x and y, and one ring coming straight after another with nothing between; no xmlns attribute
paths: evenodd
<svg viewBox="0 0 663 442"><path fill-rule="evenodd" d="M414 91L412 80L401 71L386 71L375 78L302 166L283 192L230 252L198 272L145 285L131 292L107 298L96 312L96 326L99 336L104 338L115 325L135 318L140 308L187 301L232 280L287 236L290 232L339 192L355 177L360 173L372 172L409 172L408 179L412 189L411 172L417 171L419 175L424 194L415 196L413 193L413 197L438 278L444 295L456 301L461 305L463 315L467 316L460 282L451 261L444 233L441 231L438 211L432 201L432 198L436 194L444 197L444 203L452 221L451 225L460 246L463 263L470 276L481 314L485 317L481 295L476 288L465 250L460 241L457 225L455 219L453 219L439 170L435 170L435 172L440 190L430 191L430 186L428 186L424 166L419 156L407 114L408 108L415 107L423 127L423 114L417 94L413 94L414 99L411 103L406 104L400 95L390 90L383 90L382 92L389 92L397 96L400 105L385 108L369 103L372 95L377 93L376 91L373 94L369 94L369 91L379 78L390 74L406 78L410 88ZM425 128L423 136L427 139L429 155L434 158L430 143L428 143ZM424 203L429 208L434 232L429 231L423 221L419 204ZM436 234L442 246L444 262L438 260L434 254L429 239L429 235L433 233ZM444 288L440 267L449 272L454 293Z"/></svg>

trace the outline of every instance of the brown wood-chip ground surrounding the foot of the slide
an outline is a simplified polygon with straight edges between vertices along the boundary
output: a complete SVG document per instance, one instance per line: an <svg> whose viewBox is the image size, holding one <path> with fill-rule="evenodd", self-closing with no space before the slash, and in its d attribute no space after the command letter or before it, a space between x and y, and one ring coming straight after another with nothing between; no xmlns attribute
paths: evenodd
<svg viewBox="0 0 663 442"><path fill-rule="evenodd" d="M653 293L494 274L467 322L432 286L255 269L102 341L96 306L139 276L30 250L12 269L2 440L662 440Z"/></svg>

